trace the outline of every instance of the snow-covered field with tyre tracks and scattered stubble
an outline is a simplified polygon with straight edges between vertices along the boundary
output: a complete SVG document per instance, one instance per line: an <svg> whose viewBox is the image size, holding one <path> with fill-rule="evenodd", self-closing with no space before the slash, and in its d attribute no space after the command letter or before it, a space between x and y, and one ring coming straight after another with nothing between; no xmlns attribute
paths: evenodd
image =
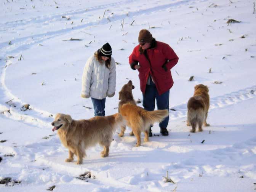
<svg viewBox="0 0 256 192"><path fill-rule="evenodd" d="M0 191L51 186L56 192L256 191L253 3L1 0L0 181L10 177L13 182L0 184ZM241 22L227 24L229 19ZM128 64L141 29L179 56L171 69L170 109L175 111L170 110L169 136L153 136L135 147L128 128L123 138L114 135L109 157L101 158L102 148L96 146L82 165L64 162L68 150L51 122L58 112L74 119L94 116L86 108L93 107L91 99L80 97L81 78L86 60L104 43L110 43L118 62L116 94L106 99L106 114L117 112L117 93L128 80L135 86L134 98L142 99L138 71ZM209 86L211 126L190 133L186 103L199 83ZM24 104L30 110L22 111ZM159 135L158 124L152 130ZM76 178L86 171L91 178ZM167 171L175 184L164 181Z"/></svg>

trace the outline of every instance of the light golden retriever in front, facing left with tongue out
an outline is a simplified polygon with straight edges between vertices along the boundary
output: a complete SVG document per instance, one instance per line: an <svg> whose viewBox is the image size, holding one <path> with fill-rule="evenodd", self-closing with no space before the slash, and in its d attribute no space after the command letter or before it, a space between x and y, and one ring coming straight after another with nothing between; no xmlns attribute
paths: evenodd
<svg viewBox="0 0 256 192"><path fill-rule="evenodd" d="M72 162L76 155L77 164L82 164L85 150L98 143L104 147L101 157L109 155L113 134L119 126L125 125L125 119L119 113L88 120L74 120L70 115L56 114L51 125L53 131L58 130L62 144L69 149L69 158L65 161Z"/></svg>

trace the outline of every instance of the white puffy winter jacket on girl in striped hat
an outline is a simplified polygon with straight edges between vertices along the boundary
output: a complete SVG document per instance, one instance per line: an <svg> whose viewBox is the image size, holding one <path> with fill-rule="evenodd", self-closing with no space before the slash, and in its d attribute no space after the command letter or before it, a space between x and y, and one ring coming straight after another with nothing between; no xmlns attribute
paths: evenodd
<svg viewBox="0 0 256 192"><path fill-rule="evenodd" d="M115 94L115 60L111 57L110 69L91 56L85 64L82 77L83 98L104 99Z"/></svg>

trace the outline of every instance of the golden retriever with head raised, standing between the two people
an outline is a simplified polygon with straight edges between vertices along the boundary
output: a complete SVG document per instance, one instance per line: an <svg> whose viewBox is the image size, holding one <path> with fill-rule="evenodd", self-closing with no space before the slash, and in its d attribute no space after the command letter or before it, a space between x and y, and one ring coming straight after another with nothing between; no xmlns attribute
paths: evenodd
<svg viewBox="0 0 256 192"><path fill-rule="evenodd" d="M144 142L149 141L149 128L155 122L161 122L169 115L167 109L147 111L142 107L136 106L133 99L132 89L134 88L131 80L122 87L119 92L119 99L121 100L118 105L118 111L127 121L127 126L132 129L133 134L137 138L136 147L141 146L141 132L144 131ZM125 126L122 127L119 136L123 136Z"/></svg>

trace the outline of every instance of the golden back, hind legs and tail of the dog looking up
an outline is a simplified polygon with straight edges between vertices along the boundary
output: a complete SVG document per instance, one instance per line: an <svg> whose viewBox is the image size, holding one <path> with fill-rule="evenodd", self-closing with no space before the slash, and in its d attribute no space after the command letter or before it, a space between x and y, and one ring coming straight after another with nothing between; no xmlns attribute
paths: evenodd
<svg viewBox="0 0 256 192"><path fill-rule="evenodd" d="M142 107L134 104L123 104L120 108L120 113L127 120L127 125L131 127L134 135L137 138L136 146L141 146L141 132L144 131L144 141L149 141L149 128L155 122L161 122L166 116L169 115L167 109L147 111Z"/></svg>

